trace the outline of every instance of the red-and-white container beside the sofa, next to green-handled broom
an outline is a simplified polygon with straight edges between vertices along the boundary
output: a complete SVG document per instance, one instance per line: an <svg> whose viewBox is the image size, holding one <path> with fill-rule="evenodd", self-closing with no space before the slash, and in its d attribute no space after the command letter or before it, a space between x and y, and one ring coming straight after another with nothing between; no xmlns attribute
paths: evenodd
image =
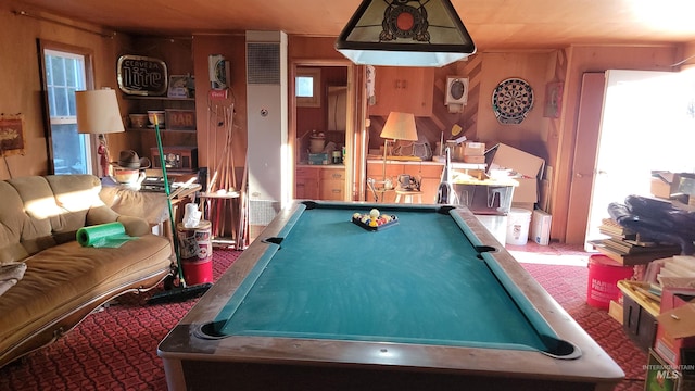
<svg viewBox="0 0 695 391"><path fill-rule="evenodd" d="M198 226L187 228L182 223L176 226L181 267L187 285L213 281L212 224L202 220Z"/></svg>

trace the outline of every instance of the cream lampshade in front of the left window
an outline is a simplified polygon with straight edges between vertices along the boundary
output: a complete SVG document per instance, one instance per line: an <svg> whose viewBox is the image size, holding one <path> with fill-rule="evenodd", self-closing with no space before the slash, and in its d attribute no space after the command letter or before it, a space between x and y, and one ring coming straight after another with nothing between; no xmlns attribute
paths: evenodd
<svg viewBox="0 0 695 391"><path fill-rule="evenodd" d="M80 134L108 134L125 131L116 90L101 89L75 92L77 131Z"/></svg>

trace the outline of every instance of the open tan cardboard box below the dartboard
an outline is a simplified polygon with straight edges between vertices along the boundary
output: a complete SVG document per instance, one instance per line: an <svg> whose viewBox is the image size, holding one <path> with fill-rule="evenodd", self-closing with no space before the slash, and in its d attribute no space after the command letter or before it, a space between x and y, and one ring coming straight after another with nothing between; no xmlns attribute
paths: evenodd
<svg viewBox="0 0 695 391"><path fill-rule="evenodd" d="M519 186L514 189L513 202L534 204L539 201L539 180L545 167L543 159L498 143L485 151L485 162L488 171L508 168L518 174L519 177L514 178Z"/></svg>

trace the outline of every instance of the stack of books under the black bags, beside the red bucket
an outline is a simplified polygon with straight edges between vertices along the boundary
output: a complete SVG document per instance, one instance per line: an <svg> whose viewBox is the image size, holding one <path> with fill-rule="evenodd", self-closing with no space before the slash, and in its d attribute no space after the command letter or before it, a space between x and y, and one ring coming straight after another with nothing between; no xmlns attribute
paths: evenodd
<svg viewBox="0 0 695 391"><path fill-rule="evenodd" d="M608 238L592 240L591 243L596 250L623 265L646 264L681 253L679 244L656 242L622 227L612 218L604 218L598 231Z"/></svg>

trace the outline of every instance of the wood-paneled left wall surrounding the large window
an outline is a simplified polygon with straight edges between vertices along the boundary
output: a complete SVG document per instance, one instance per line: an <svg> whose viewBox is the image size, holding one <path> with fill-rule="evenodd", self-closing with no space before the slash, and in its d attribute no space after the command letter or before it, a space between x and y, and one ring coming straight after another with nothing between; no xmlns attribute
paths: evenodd
<svg viewBox="0 0 695 391"><path fill-rule="evenodd" d="M99 26L60 20L61 23L15 15L23 10L34 15L40 11L17 8L13 1L0 3L0 113L24 116L25 153L5 156L0 162L0 179L48 173L43 97L37 40L77 46L93 53L94 87L117 88L115 63L117 48L127 37L103 37ZM73 23L76 27L71 27ZM67 24L67 25L65 25ZM90 33L94 31L94 33ZM109 137L112 149L119 148L121 135ZM1 156L1 154L0 154Z"/></svg>

